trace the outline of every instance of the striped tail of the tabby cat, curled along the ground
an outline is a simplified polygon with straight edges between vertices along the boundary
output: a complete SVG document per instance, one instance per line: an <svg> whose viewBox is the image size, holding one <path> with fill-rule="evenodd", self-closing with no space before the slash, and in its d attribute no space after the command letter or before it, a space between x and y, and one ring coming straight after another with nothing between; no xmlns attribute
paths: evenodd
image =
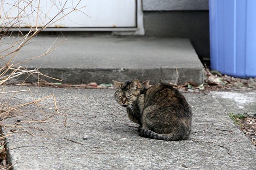
<svg viewBox="0 0 256 170"><path fill-rule="evenodd" d="M173 135L173 134L158 134L155 133L151 130L148 129L140 129L140 136L142 137L147 137L147 138L151 138L151 139L158 139L158 140L172 140L172 141L176 141L176 140L184 140L187 139L188 136L186 137L181 137L181 136L177 136L177 135Z"/></svg>

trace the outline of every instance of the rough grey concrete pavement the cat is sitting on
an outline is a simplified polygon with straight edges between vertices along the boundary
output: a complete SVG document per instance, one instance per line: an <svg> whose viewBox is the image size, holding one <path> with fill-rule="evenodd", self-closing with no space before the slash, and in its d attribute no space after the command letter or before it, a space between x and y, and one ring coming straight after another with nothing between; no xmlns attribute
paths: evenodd
<svg viewBox="0 0 256 170"><path fill-rule="evenodd" d="M8 115L2 122L8 126L2 127L2 131L17 131L6 140L11 163L15 163L13 170L256 169L256 147L233 124L223 107L234 103L234 107L243 105L246 110L249 103L256 108L255 100L236 105L232 98L225 100L218 93L183 93L192 107L192 135L184 141L159 141L138 136L137 125L114 101L112 89L7 86L5 91L28 88L35 100L55 94L60 112L68 116L65 119L58 114L34 122L54 113L52 98L38 102L46 106L41 106L45 112L27 105L22 112ZM9 95L1 94L1 101ZM256 96L256 92L249 95ZM17 93L9 104L33 101L28 96L30 92Z"/></svg>

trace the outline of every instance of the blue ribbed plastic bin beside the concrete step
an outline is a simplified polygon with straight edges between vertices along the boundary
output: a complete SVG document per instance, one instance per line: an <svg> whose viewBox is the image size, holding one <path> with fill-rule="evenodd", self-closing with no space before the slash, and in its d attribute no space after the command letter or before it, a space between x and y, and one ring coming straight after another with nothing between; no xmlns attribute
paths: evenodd
<svg viewBox="0 0 256 170"><path fill-rule="evenodd" d="M211 69L256 77L256 0L209 0Z"/></svg>

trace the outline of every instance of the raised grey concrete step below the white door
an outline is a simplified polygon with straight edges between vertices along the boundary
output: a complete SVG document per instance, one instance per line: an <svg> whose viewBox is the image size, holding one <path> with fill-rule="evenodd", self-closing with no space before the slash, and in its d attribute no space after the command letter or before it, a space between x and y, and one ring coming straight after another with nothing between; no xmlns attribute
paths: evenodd
<svg viewBox="0 0 256 170"><path fill-rule="evenodd" d="M15 63L44 54L59 42L64 43L46 55L22 65L40 68L47 76L65 84L107 83L138 78L183 84L203 83L203 66L188 39L104 36L37 36L24 46ZM5 40L13 41L12 38ZM1 49L10 44L2 44ZM0 60L0 65L3 65ZM37 78L30 79L37 81ZM53 82L53 80L49 80Z"/></svg>

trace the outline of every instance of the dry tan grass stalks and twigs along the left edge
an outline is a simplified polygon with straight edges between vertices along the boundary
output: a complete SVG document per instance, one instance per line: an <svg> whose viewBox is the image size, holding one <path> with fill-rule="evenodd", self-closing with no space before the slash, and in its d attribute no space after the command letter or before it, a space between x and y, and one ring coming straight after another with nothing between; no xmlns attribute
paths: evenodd
<svg viewBox="0 0 256 170"><path fill-rule="evenodd" d="M81 9L84 7L79 7L81 0L77 0L76 2L75 0L69 0L69 2L70 1L72 2L72 6L68 7L66 5L68 0L48 0L47 3L49 4L47 5L49 8L46 11L45 8L42 8L40 0L0 1L0 98L2 98L2 95L11 94L9 99L0 101L0 126L7 126L3 125L3 120L9 117L10 112L19 112L21 111L21 108L27 105L35 105L39 108L39 110L43 111L43 106L40 105L39 102L49 98L51 98L53 101L53 109L55 112L50 116L45 113L45 119L36 120L36 122L51 120L51 118L56 114L62 114L57 108L54 94L43 97L41 99L33 98L31 102L20 103L19 105L14 106L13 103L11 103L11 99L15 98L15 94L27 93L28 96L33 96L33 94L29 89L6 91L5 86L14 80L17 80L21 76L25 78L23 80L19 80L20 84L23 84L29 76L37 76L38 81L43 81L42 77L52 78L44 75L38 69L28 70L27 68L22 67L22 65L31 59L37 59L48 55L64 41L57 44L56 41L49 42L51 46L46 50L44 54L38 54L37 56L22 62L16 62L15 60L18 58L18 51L20 51L24 46L33 45L33 43L31 43L33 38L35 38L41 31L45 30L47 27L57 27L56 22L63 19L64 17L67 17L72 12L82 12ZM55 16L49 16L49 13L51 10L53 10L53 8L55 8L55 10L57 9L58 12L55 14ZM33 18L36 16L36 19L31 19L31 16L34 16ZM24 33L20 30L20 26L22 24L24 25L26 22L28 26L26 33ZM5 48L1 48L1 46L5 46ZM28 131L26 132L29 133ZM9 165L5 159L7 152L4 148L5 142L3 141L5 137L12 135L12 133L13 132L3 132L0 134L0 139L2 140L0 141L0 160L2 161L0 163L0 169L9 169L12 166Z"/></svg>

